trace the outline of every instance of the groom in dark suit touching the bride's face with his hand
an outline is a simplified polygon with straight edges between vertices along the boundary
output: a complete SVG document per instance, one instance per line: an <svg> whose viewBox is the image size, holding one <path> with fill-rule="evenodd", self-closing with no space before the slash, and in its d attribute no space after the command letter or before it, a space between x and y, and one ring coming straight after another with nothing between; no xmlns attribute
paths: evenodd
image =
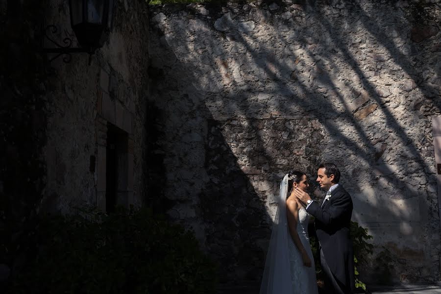
<svg viewBox="0 0 441 294"><path fill-rule="evenodd" d="M318 203L297 188L294 193L315 217L320 248L320 264L325 276L325 293L352 294L354 291L354 252L349 236L352 215L351 196L338 184L340 171L333 163L323 163L317 171L320 188L327 191Z"/></svg>

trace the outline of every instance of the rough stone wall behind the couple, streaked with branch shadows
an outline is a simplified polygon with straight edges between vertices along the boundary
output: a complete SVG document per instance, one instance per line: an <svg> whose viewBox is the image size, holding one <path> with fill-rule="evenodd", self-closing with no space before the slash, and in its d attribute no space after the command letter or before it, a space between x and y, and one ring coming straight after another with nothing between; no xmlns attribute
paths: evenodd
<svg viewBox="0 0 441 294"><path fill-rule="evenodd" d="M305 170L313 184L322 161L340 166L352 219L374 237L362 279L440 279L439 0L150 13L163 196L218 260L222 283L259 284L283 174Z"/></svg>

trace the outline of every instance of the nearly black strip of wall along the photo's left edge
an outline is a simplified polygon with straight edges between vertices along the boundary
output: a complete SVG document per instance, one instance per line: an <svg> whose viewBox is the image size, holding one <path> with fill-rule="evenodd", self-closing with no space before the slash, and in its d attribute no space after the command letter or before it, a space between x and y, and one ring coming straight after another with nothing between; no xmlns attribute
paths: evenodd
<svg viewBox="0 0 441 294"><path fill-rule="evenodd" d="M38 210L52 208L52 199L42 203L46 165L41 154L47 142L46 73L35 53L34 39L42 16L41 2L8 0L1 5L0 288L35 253L29 234Z"/></svg>

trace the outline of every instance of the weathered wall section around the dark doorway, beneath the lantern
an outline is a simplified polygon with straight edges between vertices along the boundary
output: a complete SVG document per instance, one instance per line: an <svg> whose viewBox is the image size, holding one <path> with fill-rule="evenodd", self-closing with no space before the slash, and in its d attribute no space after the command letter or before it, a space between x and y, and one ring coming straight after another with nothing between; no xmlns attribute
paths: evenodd
<svg viewBox="0 0 441 294"><path fill-rule="evenodd" d="M43 206L69 212L76 206L106 209L108 128L122 134L118 203L140 205L145 191L147 138L147 7L116 1L112 32L88 65L89 55L54 60L48 91L47 186ZM61 12L61 13L60 13ZM65 1L50 1L46 23L70 28ZM54 36L61 40L62 33ZM73 35L71 35L73 37ZM46 46L50 46L47 43ZM50 58L50 56L49 56ZM107 171L108 173L108 171ZM107 187L108 188L108 187Z"/></svg>

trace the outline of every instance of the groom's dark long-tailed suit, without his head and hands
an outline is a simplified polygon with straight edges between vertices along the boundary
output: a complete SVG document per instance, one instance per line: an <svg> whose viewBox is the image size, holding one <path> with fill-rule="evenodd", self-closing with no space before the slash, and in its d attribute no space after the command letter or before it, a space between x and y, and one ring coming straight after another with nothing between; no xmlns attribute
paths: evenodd
<svg viewBox="0 0 441 294"><path fill-rule="evenodd" d="M349 236L351 196L339 185L332 191L329 200L324 200L322 206L321 203L312 202L307 211L315 217L317 237L324 256L324 260L320 260L321 266L329 267L332 272L328 273L331 276L327 277L331 281L330 284L340 288L329 293L353 293L354 252ZM323 272L326 275L327 270L323 269ZM330 285L326 287L330 290Z"/></svg>

